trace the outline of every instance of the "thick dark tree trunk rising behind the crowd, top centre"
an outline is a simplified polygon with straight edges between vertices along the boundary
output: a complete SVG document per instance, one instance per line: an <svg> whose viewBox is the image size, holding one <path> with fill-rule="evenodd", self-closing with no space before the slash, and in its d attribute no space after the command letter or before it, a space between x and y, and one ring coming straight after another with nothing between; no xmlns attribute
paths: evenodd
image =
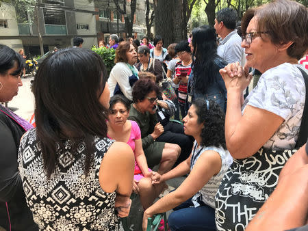
<svg viewBox="0 0 308 231"><path fill-rule="evenodd" d="M155 9L155 33L164 38L164 47L175 42L175 0L158 0ZM177 13L179 13L177 11ZM177 27L179 25L177 24Z"/></svg>

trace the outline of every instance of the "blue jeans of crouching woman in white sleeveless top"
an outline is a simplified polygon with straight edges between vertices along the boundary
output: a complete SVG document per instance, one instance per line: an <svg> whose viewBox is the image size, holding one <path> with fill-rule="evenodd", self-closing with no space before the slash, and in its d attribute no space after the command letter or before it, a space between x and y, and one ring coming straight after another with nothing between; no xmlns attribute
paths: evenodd
<svg viewBox="0 0 308 231"><path fill-rule="evenodd" d="M216 230L215 224L215 209L199 202L201 206L194 206L192 198L183 202L179 206L173 208L168 218L168 225L170 230L176 231L205 231Z"/></svg>

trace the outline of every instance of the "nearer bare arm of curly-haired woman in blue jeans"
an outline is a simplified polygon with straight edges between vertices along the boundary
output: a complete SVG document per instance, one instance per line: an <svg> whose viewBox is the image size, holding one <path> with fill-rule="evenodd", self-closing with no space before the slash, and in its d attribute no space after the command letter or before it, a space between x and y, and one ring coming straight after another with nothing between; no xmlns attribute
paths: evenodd
<svg viewBox="0 0 308 231"><path fill-rule="evenodd" d="M185 202L185 200L188 200L188 198L191 198L192 195L202 189L212 176L218 174L221 168L220 155L212 150L205 152L198 158L188 178L182 182L179 188L145 210L143 227L146 227L146 219L148 217L152 217L157 213L164 213Z"/></svg>

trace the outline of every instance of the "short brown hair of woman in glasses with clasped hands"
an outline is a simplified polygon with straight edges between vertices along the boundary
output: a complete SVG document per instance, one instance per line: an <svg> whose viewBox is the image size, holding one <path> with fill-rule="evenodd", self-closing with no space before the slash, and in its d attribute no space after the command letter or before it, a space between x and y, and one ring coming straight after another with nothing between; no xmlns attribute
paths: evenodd
<svg viewBox="0 0 308 231"><path fill-rule="evenodd" d="M255 10L257 30L267 31L273 44L293 42L287 55L300 59L308 46L308 11L304 5L290 0L277 0Z"/></svg>

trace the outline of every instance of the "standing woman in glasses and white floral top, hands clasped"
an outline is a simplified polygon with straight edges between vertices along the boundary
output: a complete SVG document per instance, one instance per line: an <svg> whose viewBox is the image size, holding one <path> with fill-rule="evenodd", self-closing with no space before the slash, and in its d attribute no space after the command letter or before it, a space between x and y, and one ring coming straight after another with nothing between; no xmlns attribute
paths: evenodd
<svg viewBox="0 0 308 231"><path fill-rule="evenodd" d="M226 144L234 162L216 195L218 230L244 230L276 187L274 171L289 154L258 150L292 149L298 140L306 94L298 59L307 50L307 21L307 8L289 0L248 10L242 18L246 65L237 62L220 70L228 98ZM244 102L250 67L262 75Z"/></svg>

